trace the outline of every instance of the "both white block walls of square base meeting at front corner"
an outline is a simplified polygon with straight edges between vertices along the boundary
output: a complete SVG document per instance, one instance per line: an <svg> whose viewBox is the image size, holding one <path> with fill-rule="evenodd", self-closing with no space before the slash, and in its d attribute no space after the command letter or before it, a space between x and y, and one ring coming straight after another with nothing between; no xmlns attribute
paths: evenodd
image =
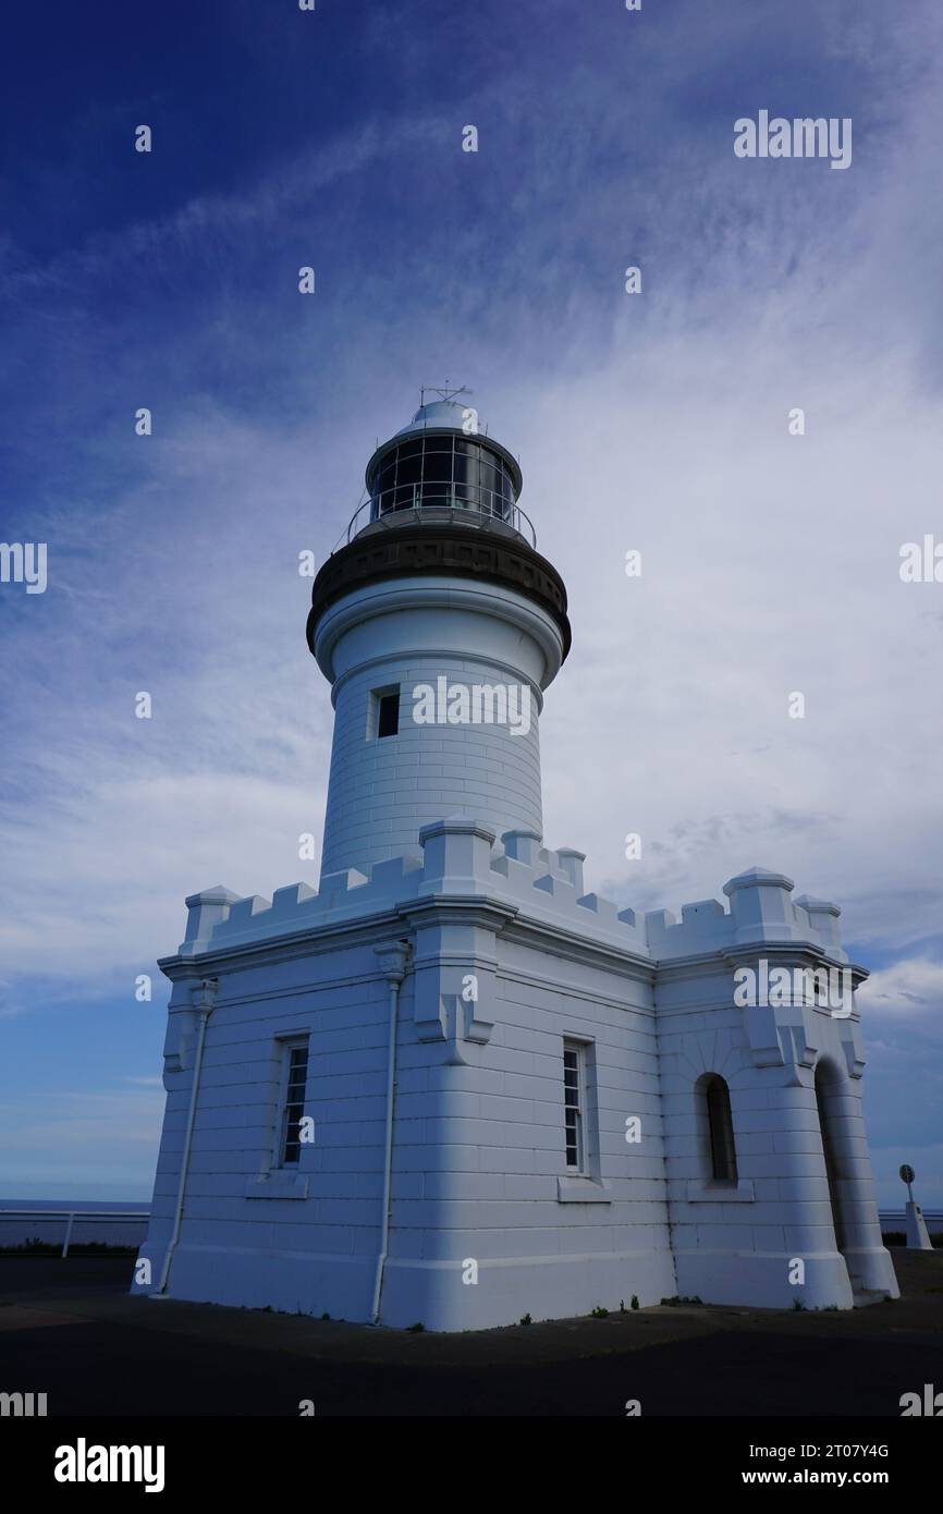
<svg viewBox="0 0 943 1514"><path fill-rule="evenodd" d="M394 1229L383 1320L469 1329L628 1307L674 1294L651 989L515 951L498 970L498 1023L466 1064L421 1042L401 993ZM372 977L371 977L372 974ZM580 981L581 980L581 981ZM598 995L593 998L593 990ZM177 993L185 1002L182 990ZM182 1011L186 1017L188 1010ZM179 1017L179 1016L177 1016ZM277 1037L310 1033L316 1140L307 1196L247 1198L274 1149ZM378 1249L387 989L365 943L224 974L209 1019L171 1296L368 1319ZM563 1036L595 1046L598 1178L562 1202ZM170 1073L168 1117L142 1255L159 1273L177 1193L189 1069ZM640 1148L625 1142L639 1114ZM587 1184L589 1187L589 1184ZM465 1284L463 1263L478 1263Z"/></svg>

